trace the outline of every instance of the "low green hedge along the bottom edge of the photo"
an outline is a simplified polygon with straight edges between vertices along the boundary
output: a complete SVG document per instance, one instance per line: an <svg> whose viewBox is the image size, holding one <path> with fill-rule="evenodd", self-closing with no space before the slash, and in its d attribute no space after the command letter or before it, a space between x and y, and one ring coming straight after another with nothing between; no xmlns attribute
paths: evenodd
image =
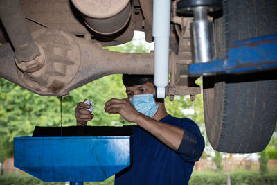
<svg viewBox="0 0 277 185"><path fill-rule="evenodd" d="M277 185L277 171L260 175L258 171L237 171L230 174L232 185ZM227 175L224 173L215 173L213 171L198 172L194 171L190 177L189 185L226 185ZM64 185L65 182L42 182L41 180L25 174L5 174L0 175L1 185ZM104 182L84 182L84 185L112 185L114 176L106 179Z"/></svg>

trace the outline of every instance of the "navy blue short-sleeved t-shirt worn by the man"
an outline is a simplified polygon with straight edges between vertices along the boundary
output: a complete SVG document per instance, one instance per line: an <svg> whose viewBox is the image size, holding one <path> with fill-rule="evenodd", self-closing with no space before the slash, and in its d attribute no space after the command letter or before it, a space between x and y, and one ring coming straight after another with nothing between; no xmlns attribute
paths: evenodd
<svg viewBox="0 0 277 185"><path fill-rule="evenodd" d="M168 148L143 128L132 125L132 164L116 174L114 184L188 184L195 161L204 150L204 138L199 127L188 118L168 115L160 121L184 129L179 149Z"/></svg>

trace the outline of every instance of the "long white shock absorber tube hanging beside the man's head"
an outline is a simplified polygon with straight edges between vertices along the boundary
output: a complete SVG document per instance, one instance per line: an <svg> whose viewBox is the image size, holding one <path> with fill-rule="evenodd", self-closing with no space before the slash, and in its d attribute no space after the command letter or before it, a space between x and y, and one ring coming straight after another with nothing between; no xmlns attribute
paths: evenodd
<svg viewBox="0 0 277 185"><path fill-rule="evenodd" d="M166 97L170 37L170 0L153 1L154 85L157 98Z"/></svg>

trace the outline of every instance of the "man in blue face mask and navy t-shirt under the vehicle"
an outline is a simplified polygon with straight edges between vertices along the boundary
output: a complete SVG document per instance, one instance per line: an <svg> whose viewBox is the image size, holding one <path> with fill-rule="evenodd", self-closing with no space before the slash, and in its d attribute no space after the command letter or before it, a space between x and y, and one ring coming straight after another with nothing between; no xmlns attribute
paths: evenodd
<svg viewBox="0 0 277 185"><path fill-rule="evenodd" d="M166 112L163 100L154 99L153 76L123 75L128 98L111 99L105 112L120 114L133 125L133 162L116 174L115 184L188 184L195 161L204 150L199 127L188 118L175 118ZM93 118L78 103L77 125Z"/></svg>

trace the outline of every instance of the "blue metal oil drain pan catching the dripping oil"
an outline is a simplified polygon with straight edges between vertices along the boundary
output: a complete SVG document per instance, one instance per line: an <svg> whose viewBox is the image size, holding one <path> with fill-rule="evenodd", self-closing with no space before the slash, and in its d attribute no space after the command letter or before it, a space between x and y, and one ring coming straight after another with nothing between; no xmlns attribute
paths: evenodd
<svg viewBox="0 0 277 185"><path fill-rule="evenodd" d="M35 127L14 147L15 167L42 181L103 181L132 163L132 127Z"/></svg>

